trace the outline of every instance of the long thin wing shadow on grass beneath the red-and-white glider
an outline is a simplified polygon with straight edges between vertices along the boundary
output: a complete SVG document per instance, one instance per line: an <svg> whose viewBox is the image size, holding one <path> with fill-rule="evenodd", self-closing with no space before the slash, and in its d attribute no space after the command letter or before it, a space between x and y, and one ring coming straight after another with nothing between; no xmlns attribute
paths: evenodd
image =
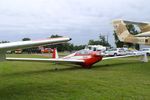
<svg viewBox="0 0 150 100"><path fill-rule="evenodd" d="M110 64L100 64L100 65L94 65L93 69L101 69L104 67L121 67L122 65L134 65L134 64L141 64L141 62L116 62L116 63L110 63ZM57 67L57 66L56 66ZM91 68L91 69L92 69ZM67 68L53 68L53 69L44 69L44 70L34 70L34 71L24 71L24 72L15 72L10 74L3 74L2 76L27 76L27 75L36 75L36 74L46 74L46 73L56 73L56 72L64 72L64 71L74 71L74 70L90 70L85 69L80 66L71 66Z"/></svg>

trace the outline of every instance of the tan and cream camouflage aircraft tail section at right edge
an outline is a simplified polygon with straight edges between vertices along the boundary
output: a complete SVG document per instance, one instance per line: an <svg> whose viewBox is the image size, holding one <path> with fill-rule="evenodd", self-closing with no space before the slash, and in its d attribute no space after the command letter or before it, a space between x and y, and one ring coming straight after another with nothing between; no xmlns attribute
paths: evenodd
<svg viewBox="0 0 150 100"><path fill-rule="evenodd" d="M141 33L132 35L127 29L127 24L137 25ZM114 20L113 26L120 41L150 45L150 23Z"/></svg>

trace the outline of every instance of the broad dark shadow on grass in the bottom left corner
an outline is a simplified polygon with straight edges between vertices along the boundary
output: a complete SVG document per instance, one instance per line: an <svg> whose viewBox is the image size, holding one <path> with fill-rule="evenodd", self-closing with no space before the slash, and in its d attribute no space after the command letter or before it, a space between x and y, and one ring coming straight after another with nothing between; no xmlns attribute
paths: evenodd
<svg viewBox="0 0 150 100"><path fill-rule="evenodd" d="M0 87L1 100L43 100L64 94L65 88L55 83L15 83ZM68 93L69 94L69 93ZM45 100L45 99L44 99ZM46 99L47 100L47 99Z"/></svg>

